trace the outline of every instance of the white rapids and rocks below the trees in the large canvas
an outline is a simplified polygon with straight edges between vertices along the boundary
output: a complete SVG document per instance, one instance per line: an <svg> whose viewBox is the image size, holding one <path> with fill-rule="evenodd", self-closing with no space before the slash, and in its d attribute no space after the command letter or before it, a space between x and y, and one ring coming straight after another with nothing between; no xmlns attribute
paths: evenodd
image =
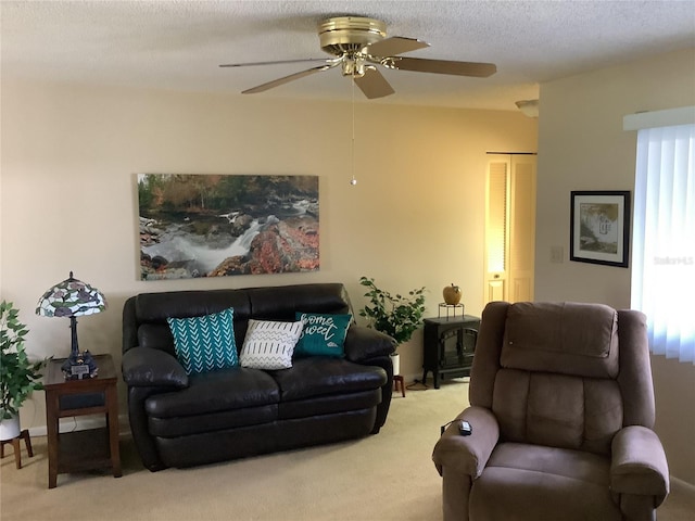
<svg viewBox="0 0 695 521"><path fill-rule="evenodd" d="M143 280L312 271L319 267L318 202L268 208L140 217Z"/></svg>

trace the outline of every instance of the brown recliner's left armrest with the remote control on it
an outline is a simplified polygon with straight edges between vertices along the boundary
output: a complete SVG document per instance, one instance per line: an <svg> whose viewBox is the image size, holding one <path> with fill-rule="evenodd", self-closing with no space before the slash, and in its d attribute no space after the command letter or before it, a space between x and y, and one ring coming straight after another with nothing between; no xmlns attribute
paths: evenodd
<svg viewBox="0 0 695 521"><path fill-rule="evenodd" d="M470 423L471 434L462 436L458 432L458 421ZM482 474L492 450L500 440L500 424L490 409L484 407L468 407L456 420L448 425L440 437L432 460L442 474L442 468L470 475L475 480Z"/></svg>

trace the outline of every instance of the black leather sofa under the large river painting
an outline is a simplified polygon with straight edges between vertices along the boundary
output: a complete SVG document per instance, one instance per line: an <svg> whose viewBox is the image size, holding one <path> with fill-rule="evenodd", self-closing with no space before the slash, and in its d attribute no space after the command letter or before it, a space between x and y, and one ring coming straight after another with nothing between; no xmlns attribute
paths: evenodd
<svg viewBox="0 0 695 521"><path fill-rule="evenodd" d="M395 342L352 323L345 357L309 356L290 369L233 367L188 376L167 317L233 308L238 348L250 318L351 313L340 283L143 293L123 309L123 378L132 439L151 471L190 467L378 433L393 386Z"/></svg>

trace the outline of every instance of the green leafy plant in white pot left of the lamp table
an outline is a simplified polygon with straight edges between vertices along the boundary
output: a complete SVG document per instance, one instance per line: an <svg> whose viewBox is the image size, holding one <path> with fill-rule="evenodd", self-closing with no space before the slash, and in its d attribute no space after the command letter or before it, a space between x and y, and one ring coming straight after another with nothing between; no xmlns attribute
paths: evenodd
<svg viewBox="0 0 695 521"><path fill-rule="evenodd" d="M29 332L11 302L0 304L0 440L20 435L20 407L36 390L47 360L30 361L24 350Z"/></svg>

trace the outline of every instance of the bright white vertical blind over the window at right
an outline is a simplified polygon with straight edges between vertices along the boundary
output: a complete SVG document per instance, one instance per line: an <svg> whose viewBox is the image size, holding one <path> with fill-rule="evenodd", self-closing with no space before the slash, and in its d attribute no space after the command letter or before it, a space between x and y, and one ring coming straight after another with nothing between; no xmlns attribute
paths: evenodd
<svg viewBox="0 0 695 521"><path fill-rule="evenodd" d="M695 125L637 132L632 307L653 353L695 364Z"/></svg>

